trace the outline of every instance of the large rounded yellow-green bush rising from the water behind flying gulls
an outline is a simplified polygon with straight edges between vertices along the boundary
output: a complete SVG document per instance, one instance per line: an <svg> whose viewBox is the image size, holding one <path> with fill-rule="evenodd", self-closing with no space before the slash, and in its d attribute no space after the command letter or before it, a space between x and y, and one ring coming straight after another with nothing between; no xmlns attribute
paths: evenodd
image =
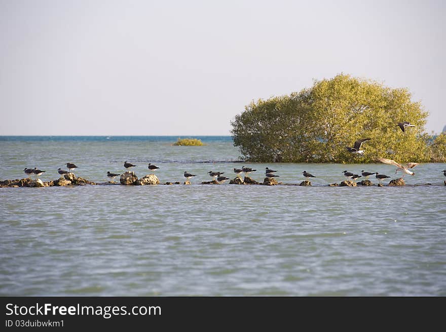
<svg viewBox="0 0 446 332"><path fill-rule="evenodd" d="M422 162L429 158L427 116L407 89L340 74L299 93L251 102L231 124L234 145L250 161ZM401 121L416 127L402 132ZM364 155L348 152L360 138L371 138L361 147Z"/></svg>

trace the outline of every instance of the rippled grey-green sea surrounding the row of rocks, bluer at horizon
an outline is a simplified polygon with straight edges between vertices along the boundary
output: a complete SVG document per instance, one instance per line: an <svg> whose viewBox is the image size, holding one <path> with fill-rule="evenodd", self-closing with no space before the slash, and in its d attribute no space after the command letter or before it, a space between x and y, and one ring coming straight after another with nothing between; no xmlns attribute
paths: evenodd
<svg viewBox="0 0 446 332"><path fill-rule="evenodd" d="M192 137L206 145L0 136L0 180L34 167L55 180L72 162L76 176L106 183L128 161L138 177L154 163L161 182L0 188L0 296L446 296L446 164L420 163L389 187L401 176L389 164L246 163L230 136ZM283 185L201 184L242 166L259 182L276 170ZM391 178L329 187L345 170ZM303 171L311 187L299 186Z"/></svg>

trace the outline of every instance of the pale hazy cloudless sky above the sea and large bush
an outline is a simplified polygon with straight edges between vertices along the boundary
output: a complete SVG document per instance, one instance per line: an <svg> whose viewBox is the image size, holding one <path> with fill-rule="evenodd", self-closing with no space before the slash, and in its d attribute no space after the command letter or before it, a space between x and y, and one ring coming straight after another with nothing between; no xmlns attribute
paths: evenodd
<svg viewBox="0 0 446 332"><path fill-rule="evenodd" d="M441 132L443 1L0 0L0 135L230 135L338 73L408 88Z"/></svg>

